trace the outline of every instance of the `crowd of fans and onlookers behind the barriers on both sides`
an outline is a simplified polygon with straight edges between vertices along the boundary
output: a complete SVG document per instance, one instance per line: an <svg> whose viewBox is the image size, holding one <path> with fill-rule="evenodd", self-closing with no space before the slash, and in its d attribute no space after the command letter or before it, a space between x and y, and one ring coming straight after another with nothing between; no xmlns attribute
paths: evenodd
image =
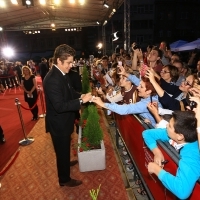
<svg viewBox="0 0 200 200"><path fill-rule="evenodd" d="M38 69L32 60L27 62L31 70L30 76L40 74L42 81L52 65L52 59L47 62L45 58L41 59ZM133 43L130 53L121 48L119 53L115 52L101 59L90 56L88 60L75 60L70 76L76 76L76 78L70 78L72 86L78 92L81 92L80 77L84 65L88 68L90 80L98 94L93 102L106 108L108 113L138 114L145 123L150 123L154 128L165 128L165 131L158 130L162 136L161 139L173 140L176 146L185 147L181 159L184 159L187 154L189 157L186 161L192 160L188 162L189 166L185 163L179 165L175 176L168 175L162 169L163 155L157 150L154 142L160 137L155 135L155 132L152 133L152 130L143 133L147 145L155 155L154 163L149 163L148 171L158 175L165 187L176 196L188 197L200 176L200 170L196 169L200 163L199 149L196 145L200 134L200 114L198 115L200 112L200 56L198 52L195 50L187 57L181 56L171 52L163 41L159 47L148 46L146 52L142 52L137 44ZM73 71L78 72L79 77ZM4 92L5 89L14 86L23 87L25 80L22 75L22 64L19 61L9 63L2 60L0 91ZM26 92L26 89L24 91ZM27 94L29 94L28 91ZM78 115L77 118L79 117ZM37 113L34 114L33 119L37 119ZM182 128L180 128L181 124ZM196 136L193 135L190 138L185 130L191 131L191 134L196 134ZM188 144L191 148L187 147ZM188 155L191 149L194 154ZM192 158L192 155L195 157ZM180 173L181 170L186 169L190 172L189 176L192 175L190 180L186 180L187 177L183 178L186 176L185 173ZM188 184L185 184L185 181ZM182 193L181 187L173 187L172 182L181 184L186 193Z"/></svg>

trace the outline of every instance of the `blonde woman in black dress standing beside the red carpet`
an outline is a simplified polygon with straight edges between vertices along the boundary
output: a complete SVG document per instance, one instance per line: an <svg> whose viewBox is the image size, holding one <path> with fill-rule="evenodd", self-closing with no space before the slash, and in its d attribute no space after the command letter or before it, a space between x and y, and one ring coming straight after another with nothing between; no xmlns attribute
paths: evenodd
<svg viewBox="0 0 200 200"><path fill-rule="evenodd" d="M28 66L22 67L22 89L24 90L24 99L28 103L29 108L33 114L32 120L38 119L38 106L37 106L37 86L35 75L32 74Z"/></svg>

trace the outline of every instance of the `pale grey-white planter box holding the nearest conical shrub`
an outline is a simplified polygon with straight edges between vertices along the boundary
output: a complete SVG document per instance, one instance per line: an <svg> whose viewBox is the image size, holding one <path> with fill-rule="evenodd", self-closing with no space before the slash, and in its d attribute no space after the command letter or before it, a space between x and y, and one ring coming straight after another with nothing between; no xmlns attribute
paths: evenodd
<svg viewBox="0 0 200 200"><path fill-rule="evenodd" d="M81 142L81 134L82 129L81 127L79 127L79 144ZM104 170L106 168L106 154L104 142L101 142L101 149L80 152L78 147L78 163L80 172Z"/></svg>

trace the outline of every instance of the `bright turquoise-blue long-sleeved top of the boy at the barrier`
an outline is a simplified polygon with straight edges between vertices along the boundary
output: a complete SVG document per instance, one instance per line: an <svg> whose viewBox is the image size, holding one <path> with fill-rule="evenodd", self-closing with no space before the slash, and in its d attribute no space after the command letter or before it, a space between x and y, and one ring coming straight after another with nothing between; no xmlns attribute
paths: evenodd
<svg viewBox="0 0 200 200"><path fill-rule="evenodd" d="M149 129L143 133L145 143L150 150L157 147L156 140L169 141L166 129ZM192 193L200 176L200 154L198 142L186 143L180 150L180 160L176 176L164 169L158 174L162 184L180 199L186 199Z"/></svg>

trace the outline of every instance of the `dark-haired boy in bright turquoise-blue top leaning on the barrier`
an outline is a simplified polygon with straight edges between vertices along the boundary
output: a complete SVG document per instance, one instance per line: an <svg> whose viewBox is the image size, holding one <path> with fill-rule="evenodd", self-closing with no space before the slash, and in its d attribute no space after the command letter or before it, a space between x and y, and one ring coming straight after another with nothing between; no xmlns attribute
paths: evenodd
<svg viewBox="0 0 200 200"><path fill-rule="evenodd" d="M200 176L200 153L197 142L197 119L192 111L174 111L166 129L149 129L143 138L154 154L154 162L148 164L150 174L156 174L162 184L180 199L192 193ZM157 147L156 140L174 140L180 150L180 160L176 175L163 169L164 156Z"/></svg>

